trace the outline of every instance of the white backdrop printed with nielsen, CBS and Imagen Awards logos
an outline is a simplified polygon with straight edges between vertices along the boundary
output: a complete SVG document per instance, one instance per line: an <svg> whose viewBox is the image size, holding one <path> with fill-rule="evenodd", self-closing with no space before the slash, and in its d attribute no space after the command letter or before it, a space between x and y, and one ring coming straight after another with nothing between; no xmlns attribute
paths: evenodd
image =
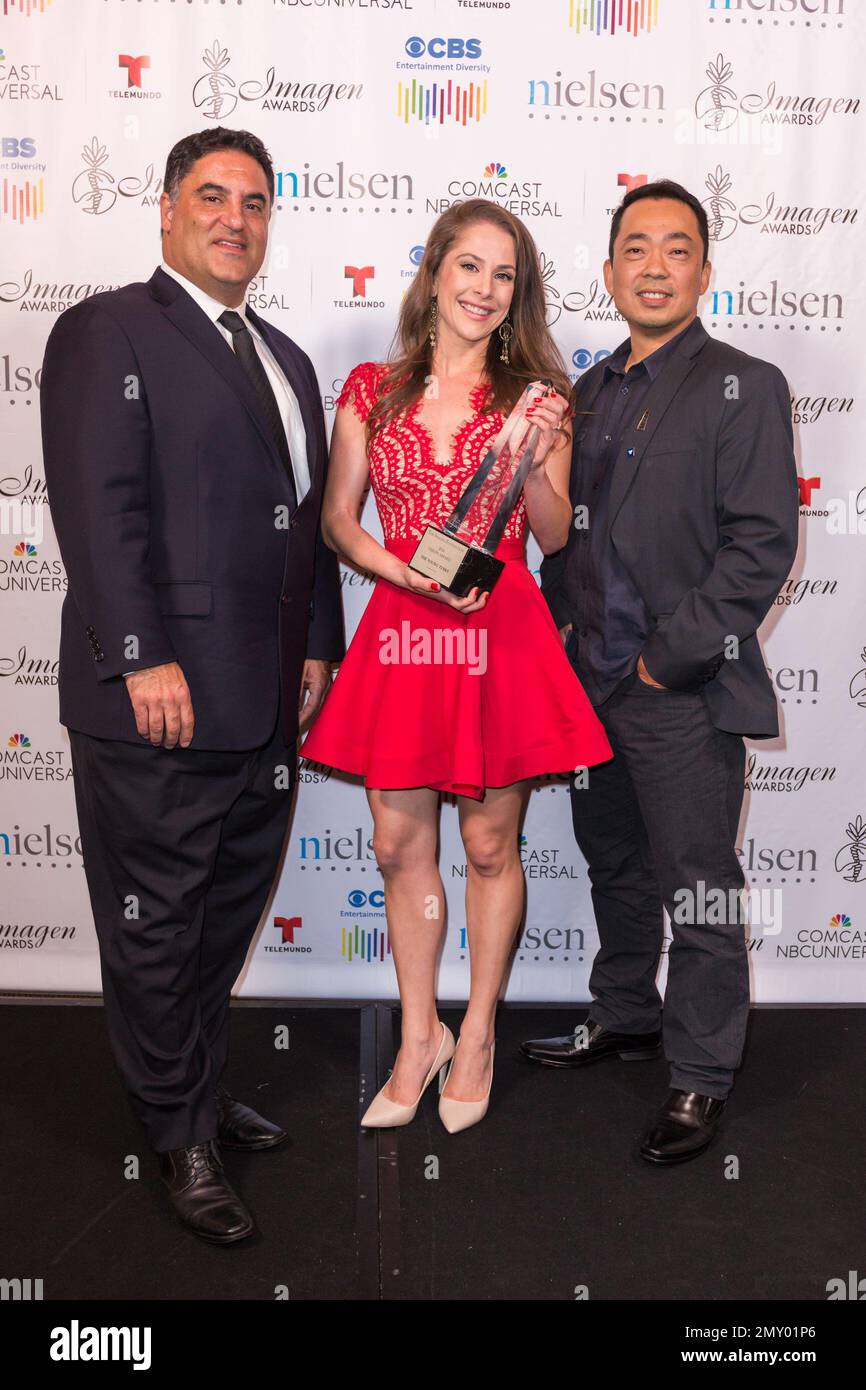
<svg viewBox="0 0 866 1390"><path fill-rule="evenodd" d="M703 202L708 331L785 373L801 549L763 627L784 735L748 748L740 852L758 1001L866 990L865 6L859 0L0 0L0 986L100 986L57 721L67 577L39 439L44 341L160 257L165 154L247 128L277 171L250 286L311 354L322 404L381 359L435 215L489 197L537 239L573 378L627 329L605 293L610 214L670 177ZM859 242L859 256L858 253ZM378 535L371 503L366 524ZM539 552L530 552L538 570ZM254 564L254 556L250 556ZM343 569L352 632L370 580ZM520 689L514 689L520 701ZM527 719L531 719L527 710ZM363 787L302 762L245 995L395 997ZM562 776L521 840L510 999L580 999L596 948ZM439 992L466 997L466 860L442 808Z"/></svg>

